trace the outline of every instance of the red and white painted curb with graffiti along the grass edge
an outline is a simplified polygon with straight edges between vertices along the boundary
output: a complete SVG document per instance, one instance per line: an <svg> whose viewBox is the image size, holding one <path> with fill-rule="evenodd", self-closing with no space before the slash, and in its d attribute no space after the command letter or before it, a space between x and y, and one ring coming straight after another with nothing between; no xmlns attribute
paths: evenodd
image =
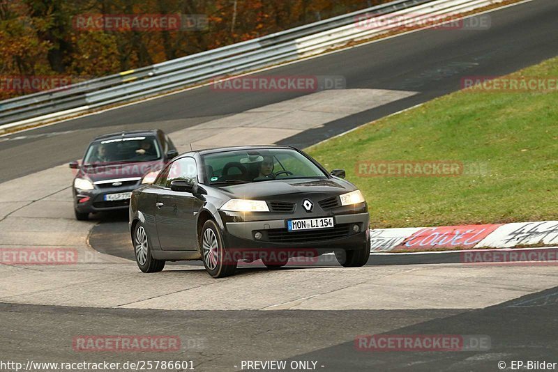
<svg viewBox="0 0 558 372"><path fill-rule="evenodd" d="M372 251L558 245L558 221L370 230Z"/></svg>

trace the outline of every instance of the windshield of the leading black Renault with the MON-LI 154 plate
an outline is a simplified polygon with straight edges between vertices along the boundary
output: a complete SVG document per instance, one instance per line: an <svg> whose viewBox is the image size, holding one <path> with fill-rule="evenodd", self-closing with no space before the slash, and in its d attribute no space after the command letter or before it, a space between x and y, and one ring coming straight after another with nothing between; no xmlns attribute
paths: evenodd
<svg viewBox="0 0 558 372"><path fill-rule="evenodd" d="M252 183L291 178L327 178L296 150L236 150L202 156L206 183Z"/></svg>

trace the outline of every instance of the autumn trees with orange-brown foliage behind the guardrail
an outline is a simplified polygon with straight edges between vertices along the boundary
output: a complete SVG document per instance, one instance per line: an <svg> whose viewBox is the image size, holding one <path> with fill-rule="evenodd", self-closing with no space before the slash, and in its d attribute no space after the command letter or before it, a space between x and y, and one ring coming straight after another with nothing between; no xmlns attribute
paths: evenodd
<svg viewBox="0 0 558 372"><path fill-rule="evenodd" d="M0 79L101 77L250 40L387 0L0 0ZM80 15L204 15L195 31L83 30ZM3 91L0 99L29 91Z"/></svg>

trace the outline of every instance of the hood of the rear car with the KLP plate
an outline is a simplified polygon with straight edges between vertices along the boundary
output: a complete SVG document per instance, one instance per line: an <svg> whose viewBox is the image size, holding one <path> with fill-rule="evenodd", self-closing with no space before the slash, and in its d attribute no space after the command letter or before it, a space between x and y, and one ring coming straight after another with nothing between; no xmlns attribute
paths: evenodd
<svg viewBox="0 0 558 372"><path fill-rule="evenodd" d="M96 164L96 166L82 166L78 176L89 178L93 182L121 178L143 178L147 173L162 169L163 165L164 163L160 160L154 162Z"/></svg>

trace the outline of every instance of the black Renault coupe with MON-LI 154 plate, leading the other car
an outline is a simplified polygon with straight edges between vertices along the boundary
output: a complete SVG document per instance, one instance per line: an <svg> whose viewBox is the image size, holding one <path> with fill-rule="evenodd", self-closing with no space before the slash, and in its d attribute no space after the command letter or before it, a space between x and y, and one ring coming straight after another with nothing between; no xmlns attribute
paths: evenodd
<svg viewBox="0 0 558 372"><path fill-rule="evenodd" d="M166 261L202 260L212 277L239 260L269 268L289 258L333 252L345 267L370 255L361 192L292 147L194 151L167 164L130 201L130 233L143 272Z"/></svg>

